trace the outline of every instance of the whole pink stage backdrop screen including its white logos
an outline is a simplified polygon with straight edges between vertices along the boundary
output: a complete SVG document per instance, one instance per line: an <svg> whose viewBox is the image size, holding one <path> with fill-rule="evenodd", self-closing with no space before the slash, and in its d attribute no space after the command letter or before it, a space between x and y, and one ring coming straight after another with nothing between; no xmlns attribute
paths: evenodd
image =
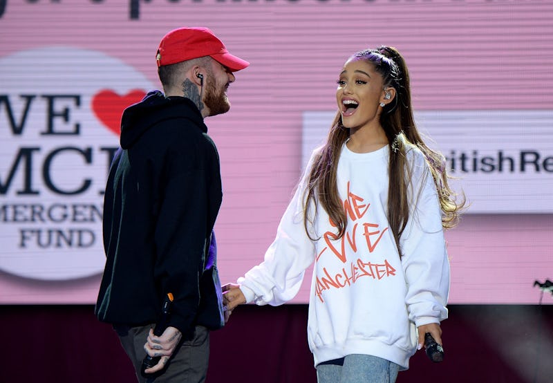
<svg viewBox="0 0 553 383"><path fill-rule="evenodd" d="M223 283L274 239L346 58L386 44L470 203L447 232L451 303L536 303L534 281L553 277L552 15L539 0L0 0L0 303L95 301L120 114L160 88L156 49L180 26L211 28L252 63L231 111L206 120ZM308 301L310 277L292 302Z"/></svg>

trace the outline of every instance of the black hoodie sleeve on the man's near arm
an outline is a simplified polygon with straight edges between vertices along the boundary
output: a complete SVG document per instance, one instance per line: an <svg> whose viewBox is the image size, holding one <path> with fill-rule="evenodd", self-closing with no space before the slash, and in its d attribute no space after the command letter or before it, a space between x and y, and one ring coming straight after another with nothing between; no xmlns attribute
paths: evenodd
<svg viewBox="0 0 553 383"><path fill-rule="evenodd" d="M198 148L174 151L165 163L166 183L160 196L156 225L156 280L163 292L174 295L169 326L183 335L192 330L200 302L199 279L203 270L209 209L207 169Z"/></svg>

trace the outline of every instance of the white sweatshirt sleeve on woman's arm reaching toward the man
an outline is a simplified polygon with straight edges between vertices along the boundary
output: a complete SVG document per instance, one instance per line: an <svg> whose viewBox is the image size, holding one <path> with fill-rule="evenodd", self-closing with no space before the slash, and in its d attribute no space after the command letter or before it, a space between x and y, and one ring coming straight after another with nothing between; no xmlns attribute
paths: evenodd
<svg viewBox="0 0 553 383"><path fill-rule="evenodd" d="M311 161L310 161L311 163ZM310 165L306 167L310 169ZM297 295L305 270L315 259L315 243L303 225L303 202L309 171L303 174L262 263L239 278L247 303L279 306Z"/></svg>

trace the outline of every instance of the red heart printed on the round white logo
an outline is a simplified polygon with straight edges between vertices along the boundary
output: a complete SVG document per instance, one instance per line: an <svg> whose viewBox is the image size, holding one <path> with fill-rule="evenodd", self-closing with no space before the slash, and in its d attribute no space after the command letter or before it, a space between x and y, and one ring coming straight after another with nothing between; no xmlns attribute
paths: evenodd
<svg viewBox="0 0 553 383"><path fill-rule="evenodd" d="M119 136L121 130L121 115L125 108L142 100L146 92L133 89L126 95L118 95L110 89L102 89L92 97L92 110L110 131Z"/></svg>

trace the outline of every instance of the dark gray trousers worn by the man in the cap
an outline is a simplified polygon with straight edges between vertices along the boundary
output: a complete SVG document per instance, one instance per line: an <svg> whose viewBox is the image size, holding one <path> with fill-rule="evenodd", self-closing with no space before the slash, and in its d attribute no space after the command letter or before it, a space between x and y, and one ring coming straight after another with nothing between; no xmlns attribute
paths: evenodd
<svg viewBox="0 0 553 383"><path fill-rule="evenodd" d="M140 383L177 383L177 382L205 382L207 364L209 362L209 330L203 326L196 326L191 339L183 339L169 359L167 368L161 375L144 378L140 375L142 359L146 356L144 344L151 326L125 327L117 326L115 331L119 335L124 351L135 368Z"/></svg>

